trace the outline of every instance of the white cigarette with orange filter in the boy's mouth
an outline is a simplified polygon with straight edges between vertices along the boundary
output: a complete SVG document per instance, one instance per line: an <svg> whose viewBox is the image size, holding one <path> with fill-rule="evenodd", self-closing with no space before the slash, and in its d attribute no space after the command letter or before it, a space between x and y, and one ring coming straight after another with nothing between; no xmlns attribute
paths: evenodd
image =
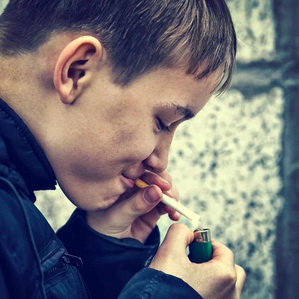
<svg viewBox="0 0 299 299"><path fill-rule="evenodd" d="M139 188L145 188L148 186L146 182L141 180L140 178L136 179L134 181L135 185L138 186ZM197 215L196 213L192 212L185 206L183 206L181 203L175 201L171 197L167 196L166 194L163 193L162 200L164 204L169 206L170 208L174 209L175 211L179 212L180 214L184 215L186 218L192 221L192 224L196 227L198 227L198 224L200 223L200 216Z"/></svg>

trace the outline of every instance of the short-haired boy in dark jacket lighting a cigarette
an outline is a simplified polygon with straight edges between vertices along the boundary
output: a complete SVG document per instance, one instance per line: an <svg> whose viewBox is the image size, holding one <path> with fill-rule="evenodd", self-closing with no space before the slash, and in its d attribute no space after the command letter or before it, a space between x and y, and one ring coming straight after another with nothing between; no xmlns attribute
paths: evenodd
<svg viewBox="0 0 299 299"><path fill-rule="evenodd" d="M235 55L224 0L8 2L1 298L240 298L245 273L227 247L214 241L212 260L192 264L192 231L172 225L158 249L156 227L179 218L159 203L162 191L178 200L165 170L173 134L227 89ZM136 190L138 177L149 187ZM56 180L78 207L58 237L33 193Z"/></svg>

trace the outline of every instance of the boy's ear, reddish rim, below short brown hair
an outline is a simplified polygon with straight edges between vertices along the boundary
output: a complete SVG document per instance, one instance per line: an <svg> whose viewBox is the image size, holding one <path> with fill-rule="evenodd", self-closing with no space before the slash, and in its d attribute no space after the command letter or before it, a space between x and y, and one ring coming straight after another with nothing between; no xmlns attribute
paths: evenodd
<svg viewBox="0 0 299 299"><path fill-rule="evenodd" d="M72 104L89 86L103 58L103 47L93 36L81 36L60 53L54 86L63 104Z"/></svg>

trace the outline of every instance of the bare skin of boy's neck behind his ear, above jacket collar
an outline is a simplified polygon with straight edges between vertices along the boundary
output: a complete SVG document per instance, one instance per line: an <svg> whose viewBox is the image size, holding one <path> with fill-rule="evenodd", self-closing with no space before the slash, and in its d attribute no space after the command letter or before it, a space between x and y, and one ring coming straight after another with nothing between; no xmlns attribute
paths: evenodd
<svg viewBox="0 0 299 299"><path fill-rule="evenodd" d="M53 108L50 104L59 98L53 84L54 69L60 52L71 38L59 34L29 54L12 58L0 55L0 98L27 126L40 130L53 112L49 111Z"/></svg>

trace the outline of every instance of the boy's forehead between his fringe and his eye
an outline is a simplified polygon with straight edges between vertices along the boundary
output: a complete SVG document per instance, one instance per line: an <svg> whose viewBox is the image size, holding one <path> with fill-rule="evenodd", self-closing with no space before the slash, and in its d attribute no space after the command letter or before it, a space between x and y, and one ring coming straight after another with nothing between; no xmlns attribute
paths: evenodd
<svg viewBox="0 0 299 299"><path fill-rule="evenodd" d="M221 78L221 69L200 80L183 68L157 69L133 83L132 88L141 101L192 118L210 99Z"/></svg>

